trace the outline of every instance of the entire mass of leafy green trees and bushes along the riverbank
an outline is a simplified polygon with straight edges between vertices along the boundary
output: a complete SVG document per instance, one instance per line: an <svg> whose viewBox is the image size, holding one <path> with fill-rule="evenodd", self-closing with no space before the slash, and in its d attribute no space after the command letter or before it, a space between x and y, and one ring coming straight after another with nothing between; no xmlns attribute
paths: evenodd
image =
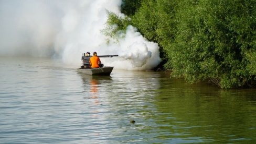
<svg viewBox="0 0 256 144"><path fill-rule="evenodd" d="M109 14L109 35L133 25L159 44L161 65L172 77L256 86L255 0L123 0L121 8L126 17Z"/></svg>

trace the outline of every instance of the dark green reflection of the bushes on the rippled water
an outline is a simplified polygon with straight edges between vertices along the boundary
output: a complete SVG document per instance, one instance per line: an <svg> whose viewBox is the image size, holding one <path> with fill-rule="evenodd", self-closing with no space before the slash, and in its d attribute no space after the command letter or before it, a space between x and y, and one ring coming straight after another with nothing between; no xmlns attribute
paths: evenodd
<svg viewBox="0 0 256 144"><path fill-rule="evenodd" d="M156 91L158 128L163 138L188 142L252 142L256 136L254 89L221 90L199 83L161 78ZM196 141L195 141L196 140Z"/></svg>

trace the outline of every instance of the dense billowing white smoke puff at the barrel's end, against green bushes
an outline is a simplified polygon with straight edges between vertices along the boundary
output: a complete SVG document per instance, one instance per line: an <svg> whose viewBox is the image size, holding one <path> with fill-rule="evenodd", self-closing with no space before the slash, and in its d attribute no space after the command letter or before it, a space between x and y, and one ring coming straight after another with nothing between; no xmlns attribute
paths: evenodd
<svg viewBox="0 0 256 144"><path fill-rule="evenodd" d="M108 45L106 49L119 54L118 59L104 59L119 69L150 70L161 62L158 44L146 40L133 26L127 28L125 37L120 38L118 44Z"/></svg>

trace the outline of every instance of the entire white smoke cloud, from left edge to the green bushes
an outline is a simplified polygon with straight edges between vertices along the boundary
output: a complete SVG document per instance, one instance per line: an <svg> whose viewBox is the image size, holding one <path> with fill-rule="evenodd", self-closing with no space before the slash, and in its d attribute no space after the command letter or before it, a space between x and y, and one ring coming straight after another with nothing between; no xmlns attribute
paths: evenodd
<svg viewBox="0 0 256 144"><path fill-rule="evenodd" d="M129 26L119 43L106 44L101 33L106 10L120 12L121 0L0 0L0 56L51 56L80 67L82 53L119 54L104 65L145 70L157 66L159 47Z"/></svg>

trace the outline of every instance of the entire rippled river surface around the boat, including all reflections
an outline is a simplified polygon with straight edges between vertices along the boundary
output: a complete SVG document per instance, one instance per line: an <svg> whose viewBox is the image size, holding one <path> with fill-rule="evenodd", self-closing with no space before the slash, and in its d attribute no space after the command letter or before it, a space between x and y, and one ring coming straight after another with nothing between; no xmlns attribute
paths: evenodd
<svg viewBox="0 0 256 144"><path fill-rule="evenodd" d="M0 58L0 143L256 142L256 89L189 85L154 71L92 77L69 67Z"/></svg>

